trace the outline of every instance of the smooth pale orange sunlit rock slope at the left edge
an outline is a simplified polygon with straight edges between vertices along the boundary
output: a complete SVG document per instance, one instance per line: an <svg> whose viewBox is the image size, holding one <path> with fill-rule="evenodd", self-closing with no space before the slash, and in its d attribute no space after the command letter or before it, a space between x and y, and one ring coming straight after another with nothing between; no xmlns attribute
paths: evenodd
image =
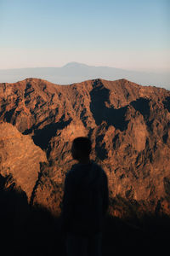
<svg viewBox="0 0 170 256"><path fill-rule="evenodd" d="M22 135L13 125L0 124L0 174L12 177L12 183L26 192L28 201L31 200L43 161L47 161L46 154L33 143L31 137Z"/></svg>

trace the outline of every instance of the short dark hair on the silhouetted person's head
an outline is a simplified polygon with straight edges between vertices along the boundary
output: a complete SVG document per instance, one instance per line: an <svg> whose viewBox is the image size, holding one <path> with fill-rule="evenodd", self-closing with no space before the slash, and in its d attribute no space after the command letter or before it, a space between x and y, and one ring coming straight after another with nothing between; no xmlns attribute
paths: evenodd
<svg viewBox="0 0 170 256"><path fill-rule="evenodd" d="M92 143L88 137L77 137L73 140L74 147L81 151L82 154L88 156L92 150Z"/></svg>

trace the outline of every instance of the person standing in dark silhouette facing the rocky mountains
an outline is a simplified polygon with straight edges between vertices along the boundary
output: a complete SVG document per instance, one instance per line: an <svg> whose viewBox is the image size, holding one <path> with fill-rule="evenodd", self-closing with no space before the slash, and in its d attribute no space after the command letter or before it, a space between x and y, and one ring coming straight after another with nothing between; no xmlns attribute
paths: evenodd
<svg viewBox="0 0 170 256"><path fill-rule="evenodd" d="M69 256L100 256L102 230L109 205L108 181L100 166L90 160L91 142L77 137L71 148L77 165L65 177L62 227Z"/></svg>

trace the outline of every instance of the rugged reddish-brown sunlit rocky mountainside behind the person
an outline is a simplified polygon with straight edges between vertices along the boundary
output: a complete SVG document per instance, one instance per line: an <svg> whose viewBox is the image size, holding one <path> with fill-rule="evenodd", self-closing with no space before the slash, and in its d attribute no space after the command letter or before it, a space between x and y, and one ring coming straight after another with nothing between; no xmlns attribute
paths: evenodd
<svg viewBox="0 0 170 256"><path fill-rule="evenodd" d="M0 121L15 126L0 127L1 173L12 173L32 204L59 213L71 142L88 136L108 175L111 214L170 215L169 112L170 91L125 79L0 84Z"/></svg>

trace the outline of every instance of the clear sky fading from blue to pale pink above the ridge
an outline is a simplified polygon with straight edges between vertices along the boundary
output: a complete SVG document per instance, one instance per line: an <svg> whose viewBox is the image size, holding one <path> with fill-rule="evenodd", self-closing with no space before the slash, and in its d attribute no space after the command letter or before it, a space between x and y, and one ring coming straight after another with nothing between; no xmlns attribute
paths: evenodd
<svg viewBox="0 0 170 256"><path fill-rule="evenodd" d="M0 69L170 72L169 0L0 0Z"/></svg>

